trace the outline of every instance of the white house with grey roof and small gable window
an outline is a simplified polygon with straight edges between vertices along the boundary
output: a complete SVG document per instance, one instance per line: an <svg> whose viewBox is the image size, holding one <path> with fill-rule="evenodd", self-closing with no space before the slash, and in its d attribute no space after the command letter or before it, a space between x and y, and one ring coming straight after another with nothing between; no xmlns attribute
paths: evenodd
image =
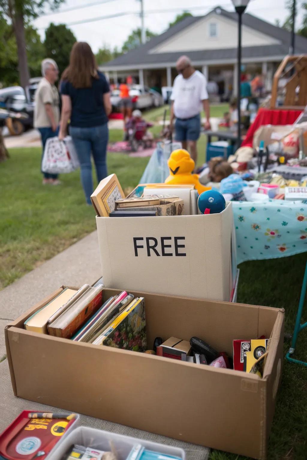
<svg viewBox="0 0 307 460"><path fill-rule="evenodd" d="M243 14L242 63L244 70L265 76L271 89L272 76L289 53L290 32L248 13ZM307 39L296 35L295 54L307 52ZM219 6L206 16L186 17L163 34L137 49L100 67L117 82L132 75L141 85L172 86L177 75L175 63L182 54L193 65L216 81L222 95L237 93L237 13Z"/></svg>

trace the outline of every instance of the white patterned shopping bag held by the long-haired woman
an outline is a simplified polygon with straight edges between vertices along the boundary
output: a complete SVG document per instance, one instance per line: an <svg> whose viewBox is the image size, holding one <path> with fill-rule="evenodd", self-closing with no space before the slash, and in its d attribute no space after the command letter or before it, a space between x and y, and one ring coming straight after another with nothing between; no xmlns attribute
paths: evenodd
<svg viewBox="0 0 307 460"><path fill-rule="evenodd" d="M41 170L43 173L72 173L80 166L74 144L70 136L60 141L58 137L47 139Z"/></svg>

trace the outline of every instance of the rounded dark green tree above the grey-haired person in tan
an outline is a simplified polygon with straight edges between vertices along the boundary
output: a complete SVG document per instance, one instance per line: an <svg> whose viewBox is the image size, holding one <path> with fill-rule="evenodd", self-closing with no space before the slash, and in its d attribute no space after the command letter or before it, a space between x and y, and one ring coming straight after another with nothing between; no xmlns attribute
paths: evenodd
<svg viewBox="0 0 307 460"><path fill-rule="evenodd" d="M46 57L52 57L58 64L60 75L69 64L70 51L76 41L73 32L65 24L51 23L45 32Z"/></svg>

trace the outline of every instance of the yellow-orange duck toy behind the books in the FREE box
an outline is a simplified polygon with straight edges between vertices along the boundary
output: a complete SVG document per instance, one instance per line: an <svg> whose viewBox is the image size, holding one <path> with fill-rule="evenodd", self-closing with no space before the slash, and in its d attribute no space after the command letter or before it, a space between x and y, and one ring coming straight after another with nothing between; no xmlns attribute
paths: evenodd
<svg viewBox="0 0 307 460"><path fill-rule="evenodd" d="M199 194L211 190L211 187L205 187L199 182L197 174L192 174L195 162L187 150L174 150L168 158L168 167L169 176L165 184L194 184Z"/></svg>

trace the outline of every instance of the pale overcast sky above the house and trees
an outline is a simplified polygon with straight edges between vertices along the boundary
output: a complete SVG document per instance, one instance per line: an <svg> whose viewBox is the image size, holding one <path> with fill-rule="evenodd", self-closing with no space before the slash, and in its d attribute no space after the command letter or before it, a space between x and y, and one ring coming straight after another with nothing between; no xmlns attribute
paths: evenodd
<svg viewBox="0 0 307 460"><path fill-rule="evenodd" d="M296 3L300 5L302 1L297 0ZM287 15L284 4L285 0L250 0L246 12L271 23L274 23L275 19L283 22ZM86 5L89 6L84 7ZM82 8L77 9L79 6ZM233 11L231 0L144 0L145 27L159 34L167 29L168 23L183 10L191 11L194 16L201 16L215 6ZM151 12L155 10L159 12ZM104 44L111 48L121 47L130 32L140 27L139 0L66 0L58 11L56 14L49 14L50 10L46 9L47 14L35 20L41 37L44 38L44 29L51 22L65 23L73 30L77 40L87 41L92 46L93 52L97 52ZM121 16L126 12L131 14ZM103 16L113 17L93 21ZM70 25L80 21L84 23ZM298 26L299 23L298 18Z"/></svg>

